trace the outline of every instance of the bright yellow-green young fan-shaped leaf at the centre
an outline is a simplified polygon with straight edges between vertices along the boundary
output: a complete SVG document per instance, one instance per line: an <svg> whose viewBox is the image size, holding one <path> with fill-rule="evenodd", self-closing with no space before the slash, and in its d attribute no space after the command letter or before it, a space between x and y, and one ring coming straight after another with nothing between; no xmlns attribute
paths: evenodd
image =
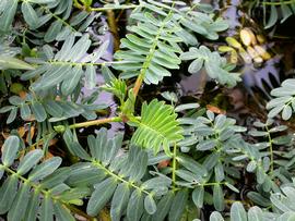
<svg viewBox="0 0 295 221"><path fill-rule="evenodd" d="M169 146L182 139L182 128L176 118L173 107L163 101L154 99L149 105L144 102L141 109L141 121L138 122L138 130L131 143L153 148L155 154L163 146L168 155Z"/></svg>

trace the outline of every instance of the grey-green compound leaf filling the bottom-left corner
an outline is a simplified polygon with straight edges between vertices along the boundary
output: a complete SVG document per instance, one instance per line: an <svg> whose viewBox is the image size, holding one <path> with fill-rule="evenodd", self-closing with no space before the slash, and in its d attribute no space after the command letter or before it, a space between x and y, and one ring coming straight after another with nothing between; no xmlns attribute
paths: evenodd
<svg viewBox="0 0 295 221"><path fill-rule="evenodd" d="M17 168L12 169L19 148L16 136L10 136L2 148L0 173L7 174L0 187L0 214L8 213L11 221L35 220L37 217L74 220L67 206L83 204L81 198L88 194L88 189L71 188L63 183L70 173L69 168L58 169L61 158L52 157L39 163L44 157L40 149L28 151Z"/></svg>

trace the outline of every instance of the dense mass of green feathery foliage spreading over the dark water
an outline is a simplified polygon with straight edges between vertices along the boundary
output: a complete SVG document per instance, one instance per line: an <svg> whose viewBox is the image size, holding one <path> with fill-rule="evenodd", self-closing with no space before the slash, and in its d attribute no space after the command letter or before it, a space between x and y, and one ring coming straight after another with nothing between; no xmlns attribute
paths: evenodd
<svg viewBox="0 0 295 221"><path fill-rule="evenodd" d="M279 4L264 7L269 28ZM295 12L292 2L280 9L281 22ZM111 40L98 35L114 12L128 12L128 26L113 61ZM198 0L1 0L0 214L9 221L294 220L294 135L280 124L295 112L294 79L271 91L269 119L250 130L197 99L140 96L181 66L203 70L220 87L236 86L235 64L210 44L227 28ZM101 100L105 91L116 110ZM114 123L125 132L109 130ZM239 183L243 176L251 183Z"/></svg>

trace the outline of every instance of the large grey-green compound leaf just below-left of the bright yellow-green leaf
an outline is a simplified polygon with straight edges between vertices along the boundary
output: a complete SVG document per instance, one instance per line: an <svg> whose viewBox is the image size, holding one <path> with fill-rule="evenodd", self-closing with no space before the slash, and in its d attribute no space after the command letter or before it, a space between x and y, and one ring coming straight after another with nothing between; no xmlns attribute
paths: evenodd
<svg viewBox="0 0 295 221"><path fill-rule="evenodd" d="M128 154L121 152L122 134L109 139L105 128L96 137L88 136L87 140L92 161L74 165L67 182L73 186L94 186L87 213L96 216L108 202L111 220L120 220L123 216L128 220L140 220L144 210L155 213L153 195L166 193L170 181L154 177L141 184L146 173L146 152L135 146Z"/></svg>

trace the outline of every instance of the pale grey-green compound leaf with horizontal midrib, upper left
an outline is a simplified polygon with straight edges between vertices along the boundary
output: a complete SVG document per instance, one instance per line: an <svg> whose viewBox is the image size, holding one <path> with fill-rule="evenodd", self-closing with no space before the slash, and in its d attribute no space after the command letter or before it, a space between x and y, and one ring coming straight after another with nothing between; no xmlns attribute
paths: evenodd
<svg viewBox="0 0 295 221"><path fill-rule="evenodd" d="M91 46L88 35L82 36L75 44L74 41L75 37L71 35L55 56L49 53L47 61L42 62L36 70L23 74L22 79L37 77L37 81L31 85L33 90L48 90L59 86L61 94L66 96L80 87L83 77L85 86L93 88L96 78L93 62L104 54L108 41L88 56L86 56Z"/></svg>

